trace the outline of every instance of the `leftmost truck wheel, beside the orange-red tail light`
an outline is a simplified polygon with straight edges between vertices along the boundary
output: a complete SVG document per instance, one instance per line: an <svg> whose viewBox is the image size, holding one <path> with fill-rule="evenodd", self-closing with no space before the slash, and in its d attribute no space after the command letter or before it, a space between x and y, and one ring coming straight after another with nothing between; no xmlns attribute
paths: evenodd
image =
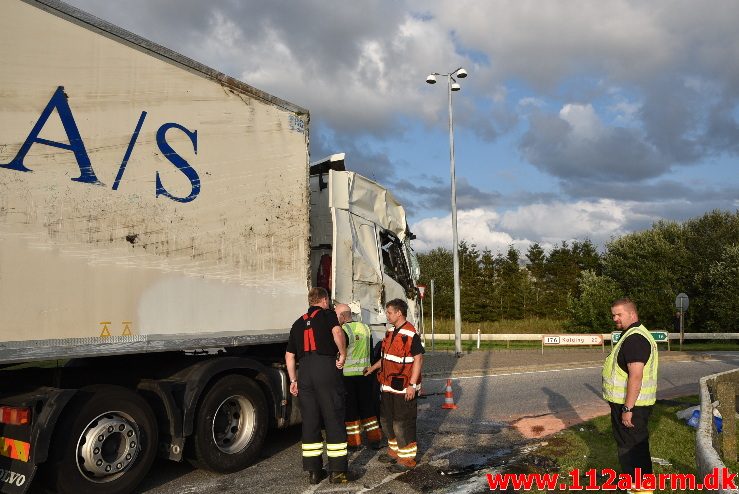
<svg viewBox="0 0 739 494"><path fill-rule="evenodd" d="M132 492L156 457L154 412L126 388L80 390L56 430L49 480L52 491L60 494Z"/></svg>

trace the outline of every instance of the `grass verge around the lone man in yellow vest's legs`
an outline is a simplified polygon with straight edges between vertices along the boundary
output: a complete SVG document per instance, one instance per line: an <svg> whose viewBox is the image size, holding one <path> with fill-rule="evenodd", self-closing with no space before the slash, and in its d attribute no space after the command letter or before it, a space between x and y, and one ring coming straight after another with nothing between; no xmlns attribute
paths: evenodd
<svg viewBox="0 0 739 494"><path fill-rule="evenodd" d="M698 397L690 396L679 400L660 400L655 405L649 421L652 457L660 459L653 461L655 474L696 474L695 429L675 416L677 411L695 404L698 404ZM563 481L572 484L572 479L568 475L569 472L577 469L580 472L580 484L587 487L590 477L586 475L586 472L590 469L600 472L604 468L616 471L619 469L609 416L589 420L550 436L531 454L510 465L506 472L556 472L560 474L561 479L567 477ZM735 469L731 471L736 472ZM597 483L600 485L605 480L605 477L599 476ZM703 481L703 479L697 480ZM552 491L532 489L531 492ZM671 490L668 483L667 489L660 492L692 494L703 491Z"/></svg>

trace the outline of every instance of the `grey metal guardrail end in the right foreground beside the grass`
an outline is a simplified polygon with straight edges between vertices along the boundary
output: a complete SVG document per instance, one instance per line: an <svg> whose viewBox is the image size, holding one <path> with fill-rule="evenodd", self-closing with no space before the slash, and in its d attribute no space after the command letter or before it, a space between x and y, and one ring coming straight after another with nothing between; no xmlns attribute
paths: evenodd
<svg viewBox="0 0 739 494"><path fill-rule="evenodd" d="M699 478L715 468L726 468L724 460L736 461L736 392L739 370L722 372L701 378L701 418L695 438L695 461ZM719 434L713 420L713 403L718 401L723 431ZM720 453L719 453L720 452ZM719 487L719 494L739 494L737 489Z"/></svg>

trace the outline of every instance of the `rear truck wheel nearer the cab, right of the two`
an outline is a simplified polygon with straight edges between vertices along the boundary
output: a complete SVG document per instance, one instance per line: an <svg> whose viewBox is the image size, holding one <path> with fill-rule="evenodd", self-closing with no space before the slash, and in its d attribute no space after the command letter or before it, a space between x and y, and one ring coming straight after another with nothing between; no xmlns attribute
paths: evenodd
<svg viewBox="0 0 739 494"><path fill-rule="evenodd" d="M267 400L251 379L230 375L203 397L191 438L193 464L220 473L246 468L267 436Z"/></svg>

